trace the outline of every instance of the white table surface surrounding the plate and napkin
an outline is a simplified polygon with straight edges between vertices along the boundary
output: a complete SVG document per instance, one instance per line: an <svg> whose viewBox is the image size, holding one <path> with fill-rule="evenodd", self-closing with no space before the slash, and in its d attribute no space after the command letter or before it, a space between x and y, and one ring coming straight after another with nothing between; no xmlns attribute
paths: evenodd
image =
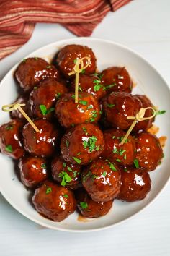
<svg viewBox="0 0 170 256"><path fill-rule="evenodd" d="M91 36L114 40L138 51L170 85L169 17L169 0L135 0L115 13L110 12ZM0 62L0 79L17 61L35 49L73 37L61 25L37 25L31 40ZM153 205L127 223L85 234L45 229L17 213L0 195L0 255L168 256L169 194L170 185L166 186Z"/></svg>

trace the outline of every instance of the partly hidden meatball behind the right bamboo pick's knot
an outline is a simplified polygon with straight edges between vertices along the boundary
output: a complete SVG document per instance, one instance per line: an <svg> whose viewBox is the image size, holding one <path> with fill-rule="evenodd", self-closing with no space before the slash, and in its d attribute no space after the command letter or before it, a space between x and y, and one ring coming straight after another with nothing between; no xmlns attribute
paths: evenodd
<svg viewBox="0 0 170 256"><path fill-rule="evenodd" d="M135 96L140 99L142 103L142 108L148 108L148 107L154 108L153 104L146 97L146 95L135 95ZM153 115L153 111L151 109L147 109L145 113L145 117L152 116L152 115ZM139 121L138 124L135 125L134 130L136 131L147 130L152 127L153 121L154 121L154 117L152 119L148 119L145 121Z"/></svg>

